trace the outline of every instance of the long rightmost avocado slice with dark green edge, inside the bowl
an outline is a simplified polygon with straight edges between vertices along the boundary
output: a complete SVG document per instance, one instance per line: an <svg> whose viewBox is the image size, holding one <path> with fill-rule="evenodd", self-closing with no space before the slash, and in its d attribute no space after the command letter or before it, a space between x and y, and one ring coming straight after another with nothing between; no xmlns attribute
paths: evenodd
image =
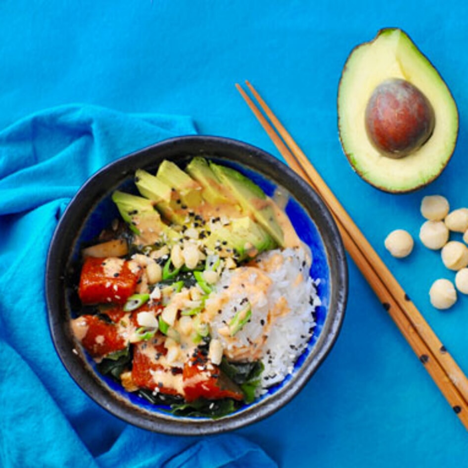
<svg viewBox="0 0 468 468"><path fill-rule="evenodd" d="M265 192L250 179L230 167L220 166L213 162L210 162L210 167L218 179L229 188L242 208L247 213L252 213L262 228L273 237L279 246L283 247L284 233Z"/></svg>

